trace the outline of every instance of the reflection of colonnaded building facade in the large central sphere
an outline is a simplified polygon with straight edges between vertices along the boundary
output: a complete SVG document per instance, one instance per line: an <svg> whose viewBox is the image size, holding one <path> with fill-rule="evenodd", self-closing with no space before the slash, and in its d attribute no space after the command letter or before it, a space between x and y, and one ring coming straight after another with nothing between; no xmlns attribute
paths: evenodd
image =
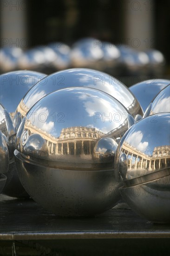
<svg viewBox="0 0 170 256"><path fill-rule="evenodd" d="M60 136L54 137L30 121L26 121L25 128L29 135L41 135L46 140L49 153L53 155L92 155L96 140L104 135L96 128L70 127L63 128Z"/></svg>

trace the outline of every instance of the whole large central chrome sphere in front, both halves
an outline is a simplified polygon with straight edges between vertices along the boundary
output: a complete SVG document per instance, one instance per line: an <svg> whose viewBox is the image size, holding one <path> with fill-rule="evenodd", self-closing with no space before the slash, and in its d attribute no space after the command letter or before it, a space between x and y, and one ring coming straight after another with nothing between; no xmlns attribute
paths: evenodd
<svg viewBox="0 0 170 256"><path fill-rule="evenodd" d="M120 198L115 141L128 130L129 118L119 101L92 88L46 95L17 132L15 160L26 191L60 216L95 215L114 206ZM100 147L103 159L94 157Z"/></svg>

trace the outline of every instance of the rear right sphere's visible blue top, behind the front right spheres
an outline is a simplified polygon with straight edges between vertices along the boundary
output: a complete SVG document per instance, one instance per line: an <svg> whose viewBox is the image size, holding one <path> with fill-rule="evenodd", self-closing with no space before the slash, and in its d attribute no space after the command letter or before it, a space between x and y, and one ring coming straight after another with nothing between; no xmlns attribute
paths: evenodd
<svg viewBox="0 0 170 256"><path fill-rule="evenodd" d="M140 105L142 106L144 112L150 101L168 84L170 84L170 80L166 79L151 79L142 81L131 86L129 89L136 96Z"/></svg>

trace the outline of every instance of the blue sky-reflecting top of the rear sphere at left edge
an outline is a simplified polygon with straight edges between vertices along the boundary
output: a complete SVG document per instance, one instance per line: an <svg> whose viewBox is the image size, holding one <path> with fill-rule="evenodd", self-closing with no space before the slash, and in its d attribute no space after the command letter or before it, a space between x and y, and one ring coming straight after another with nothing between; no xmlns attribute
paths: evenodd
<svg viewBox="0 0 170 256"><path fill-rule="evenodd" d="M38 81L46 77L39 72L20 70L0 75L0 102L8 113L15 112L24 95Z"/></svg>

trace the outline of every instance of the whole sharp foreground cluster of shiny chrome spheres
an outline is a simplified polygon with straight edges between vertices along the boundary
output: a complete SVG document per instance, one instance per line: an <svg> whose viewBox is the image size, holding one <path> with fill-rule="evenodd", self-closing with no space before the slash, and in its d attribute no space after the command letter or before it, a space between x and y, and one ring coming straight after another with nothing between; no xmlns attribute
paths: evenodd
<svg viewBox="0 0 170 256"><path fill-rule="evenodd" d="M0 188L58 216L93 216L122 198L170 222L170 81L128 89L72 68L0 75ZM20 180L19 180L20 179Z"/></svg>

